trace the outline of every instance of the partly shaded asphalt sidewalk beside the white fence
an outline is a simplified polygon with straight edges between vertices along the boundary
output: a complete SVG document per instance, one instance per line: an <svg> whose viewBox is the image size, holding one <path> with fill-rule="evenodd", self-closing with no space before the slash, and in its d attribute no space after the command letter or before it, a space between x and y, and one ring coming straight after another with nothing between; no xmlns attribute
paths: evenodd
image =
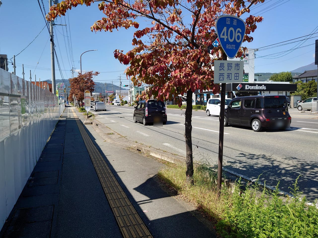
<svg viewBox="0 0 318 238"><path fill-rule="evenodd" d="M162 190L162 163L84 120L66 107L0 237L216 237Z"/></svg>

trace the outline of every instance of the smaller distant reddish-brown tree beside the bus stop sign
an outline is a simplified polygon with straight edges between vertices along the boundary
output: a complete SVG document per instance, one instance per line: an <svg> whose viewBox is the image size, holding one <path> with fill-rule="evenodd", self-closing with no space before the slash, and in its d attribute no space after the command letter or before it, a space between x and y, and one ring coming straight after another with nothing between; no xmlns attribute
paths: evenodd
<svg viewBox="0 0 318 238"><path fill-rule="evenodd" d="M77 77L70 78L70 96L71 100L73 95L76 97L77 102L80 103L84 99L84 91L88 90L93 92L95 89L95 83L93 76L99 75L99 72L93 73L93 71L86 72L85 74L79 73ZM78 105L79 106L79 105Z"/></svg>

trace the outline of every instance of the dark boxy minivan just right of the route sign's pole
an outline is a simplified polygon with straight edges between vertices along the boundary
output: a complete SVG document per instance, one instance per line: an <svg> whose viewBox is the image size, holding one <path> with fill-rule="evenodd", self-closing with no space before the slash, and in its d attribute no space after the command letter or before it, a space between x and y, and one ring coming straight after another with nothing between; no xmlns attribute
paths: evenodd
<svg viewBox="0 0 318 238"><path fill-rule="evenodd" d="M236 97L225 109L224 115L224 126L247 126L254 131L262 128L286 129L291 122L286 96Z"/></svg>

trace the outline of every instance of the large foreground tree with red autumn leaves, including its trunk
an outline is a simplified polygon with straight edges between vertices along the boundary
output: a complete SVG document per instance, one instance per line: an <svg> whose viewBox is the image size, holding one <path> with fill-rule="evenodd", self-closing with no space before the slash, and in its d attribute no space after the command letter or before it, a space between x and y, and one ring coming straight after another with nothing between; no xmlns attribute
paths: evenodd
<svg viewBox="0 0 318 238"><path fill-rule="evenodd" d="M46 16L53 20L77 5L90 6L93 0L65 0L51 7ZM97 2L97 1L95 1ZM101 1L98 1L101 2ZM91 27L92 31L139 28L140 21L148 21L147 27L136 30L132 39L133 49L127 53L115 50L114 56L128 65L125 73L135 86L151 85L141 95L158 100L171 100L172 95L187 94L185 111L186 177L192 181L193 156L191 138L192 95L196 89L219 92L213 83L213 62L220 59L220 46L208 50L216 40L215 23L219 16L240 17L249 13L252 5L264 0L106 0L98 4L105 14ZM262 17L250 15L245 19L246 35L243 42L251 42L250 35ZM247 48L242 47L238 57ZM180 99L179 99L180 100ZM178 101L181 106L181 101Z"/></svg>

